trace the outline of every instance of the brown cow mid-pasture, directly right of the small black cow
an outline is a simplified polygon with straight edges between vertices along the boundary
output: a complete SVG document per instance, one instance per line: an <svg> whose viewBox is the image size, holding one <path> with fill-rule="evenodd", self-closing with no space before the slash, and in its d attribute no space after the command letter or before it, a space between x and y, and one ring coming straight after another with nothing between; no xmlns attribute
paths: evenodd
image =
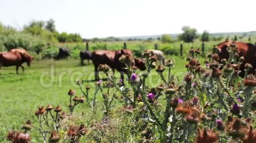
<svg viewBox="0 0 256 143"><path fill-rule="evenodd" d="M95 80L99 80L98 77L98 66L100 64L107 64L110 68L114 70L114 58L115 51L113 50L96 50L91 54L91 60L94 64Z"/></svg>

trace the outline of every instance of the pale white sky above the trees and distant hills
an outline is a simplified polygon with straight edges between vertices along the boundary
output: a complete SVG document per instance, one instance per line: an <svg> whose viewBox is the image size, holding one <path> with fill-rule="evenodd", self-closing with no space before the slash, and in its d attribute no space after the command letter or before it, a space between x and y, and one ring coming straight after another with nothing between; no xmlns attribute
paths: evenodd
<svg viewBox="0 0 256 143"><path fill-rule="evenodd" d="M0 0L0 22L22 29L53 18L83 38L256 30L256 0Z"/></svg>

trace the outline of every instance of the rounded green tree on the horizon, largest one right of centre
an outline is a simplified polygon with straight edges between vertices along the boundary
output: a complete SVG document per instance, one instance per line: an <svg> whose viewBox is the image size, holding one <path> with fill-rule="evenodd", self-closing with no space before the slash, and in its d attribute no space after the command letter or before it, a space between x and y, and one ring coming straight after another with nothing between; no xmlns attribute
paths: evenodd
<svg viewBox="0 0 256 143"><path fill-rule="evenodd" d="M196 39L197 35L196 32L197 30L194 28L190 28L189 26L184 26L182 27L183 33L179 35L179 39L183 40L184 42L193 42L194 39Z"/></svg>

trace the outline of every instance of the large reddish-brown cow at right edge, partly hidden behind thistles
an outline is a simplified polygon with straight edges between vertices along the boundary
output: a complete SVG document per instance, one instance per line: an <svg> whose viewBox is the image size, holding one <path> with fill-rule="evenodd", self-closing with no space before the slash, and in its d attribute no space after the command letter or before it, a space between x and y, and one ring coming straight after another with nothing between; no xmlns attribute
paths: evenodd
<svg viewBox="0 0 256 143"><path fill-rule="evenodd" d="M250 63L252 64L252 69L249 71L249 73L255 73L256 69L256 46L251 43L244 43L244 42L233 42L233 41L225 41L222 43L219 43L217 45L218 49L220 49L220 52L218 53L218 56L220 60L222 59L229 59L229 52L228 47L231 43L234 43L239 51L239 57L244 57L245 61L241 64L240 70L241 73L240 76L244 76L245 73L245 64Z"/></svg>

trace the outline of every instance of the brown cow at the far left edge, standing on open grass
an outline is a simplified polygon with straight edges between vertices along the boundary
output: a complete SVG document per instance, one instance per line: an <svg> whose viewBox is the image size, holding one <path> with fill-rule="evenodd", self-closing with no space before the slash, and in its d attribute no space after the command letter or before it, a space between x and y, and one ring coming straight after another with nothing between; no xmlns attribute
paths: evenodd
<svg viewBox="0 0 256 143"><path fill-rule="evenodd" d="M32 57L26 54L21 54L19 52L2 52L0 53L0 67L16 66L16 73L18 74L19 67L22 68L24 72L23 63L26 62L27 66L30 66Z"/></svg>

